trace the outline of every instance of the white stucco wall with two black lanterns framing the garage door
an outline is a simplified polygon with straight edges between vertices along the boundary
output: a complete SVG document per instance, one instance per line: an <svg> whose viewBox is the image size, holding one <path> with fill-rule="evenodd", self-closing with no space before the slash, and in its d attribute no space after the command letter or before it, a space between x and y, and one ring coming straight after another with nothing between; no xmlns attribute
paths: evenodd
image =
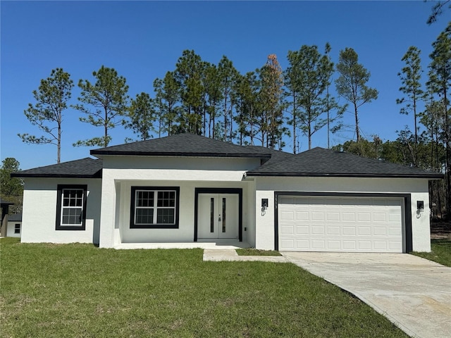
<svg viewBox="0 0 451 338"><path fill-rule="evenodd" d="M411 194L412 246L414 251L431 251L428 180L350 177L255 177L256 247L274 249L274 192L362 192ZM268 199L265 215L260 201ZM416 212L416 201L424 201L424 212Z"/></svg>

